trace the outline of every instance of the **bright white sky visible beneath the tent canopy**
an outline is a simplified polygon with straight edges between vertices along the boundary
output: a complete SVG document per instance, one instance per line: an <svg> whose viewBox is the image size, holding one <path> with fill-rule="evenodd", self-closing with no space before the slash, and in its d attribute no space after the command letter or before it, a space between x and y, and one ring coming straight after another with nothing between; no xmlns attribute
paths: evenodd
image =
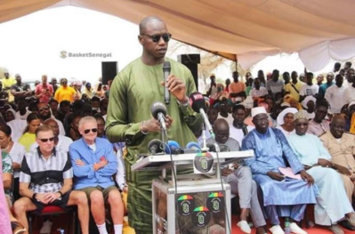
<svg viewBox="0 0 355 234"><path fill-rule="evenodd" d="M109 14L75 6L63 6L34 12L16 20L0 24L4 35L0 39L0 68L8 69L11 76L19 73L24 81L48 77L74 77L97 83L101 77L101 61L117 61L118 70L141 56L138 26ZM173 42L170 43L170 46ZM61 58L61 52L67 55ZM109 57L69 57L69 53L107 53ZM198 52L191 46L171 52L176 60L181 53ZM229 62L226 62L229 63ZM334 62L319 71L332 69ZM298 54L271 56L255 64L252 75L263 69L303 72ZM216 77L231 77L230 66L224 64L214 70Z"/></svg>

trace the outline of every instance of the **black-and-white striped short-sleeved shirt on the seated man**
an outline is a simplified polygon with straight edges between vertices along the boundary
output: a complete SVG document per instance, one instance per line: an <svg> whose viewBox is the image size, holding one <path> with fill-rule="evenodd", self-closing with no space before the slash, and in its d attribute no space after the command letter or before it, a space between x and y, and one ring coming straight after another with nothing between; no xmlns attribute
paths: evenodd
<svg viewBox="0 0 355 234"><path fill-rule="evenodd" d="M73 178L73 168L68 153L53 149L45 159L37 150L27 153L22 161L20 182L28 182L29 190L36 193L61 190L64 179Z"/></svg>

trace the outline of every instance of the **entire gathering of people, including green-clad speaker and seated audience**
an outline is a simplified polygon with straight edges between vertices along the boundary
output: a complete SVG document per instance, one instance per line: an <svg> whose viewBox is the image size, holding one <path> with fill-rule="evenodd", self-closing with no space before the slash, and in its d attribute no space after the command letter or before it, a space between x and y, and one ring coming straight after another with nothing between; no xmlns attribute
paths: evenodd
<svg viewBox="0 0 355 234"><path fill-rule="evenodd" d="M113 230L121 234L125 193L135 233L152 233L151 182L160 172L133 172L131 165L148 153L149 141L160 138L150 105L163 101L164 86L172 96L167 138L202 145L205 134L201 115L190 107L188 96L196 91L190 70L165 58L171 36L163 20L142 20L141 58L95 91L89 83L69 85L62 78L57 85L46 76L31 90L20 75L13 79L5 73L0 146L13 233L27 233L28 211L54 205L77 206L82 233L92 231L91 213L100 234L106 234L107 204ZM166 84L161 82L164 61L172 64ZM313 76L284 72L281 80L278 70L267 77L260 70L255 78L247 74L243 83L236 71L226 85L210 77L206 107L216 143L222 151L254 150L254 157L222 169L238 195L238 227L244 233L251 233L249 214L258 234L267 233L266 220L272 233L283 234L280 217L290 220L293 233L307 233L297 222L308 204L315 204L315 222L333 233L343 233L339 224L355 230L355 71L351 62L343 69L335 63L326 82L319 75L313 84ZM214 222L214 233L225 233L225 223ZM50 232L51 223L44 221L43 233Z"/></svg>

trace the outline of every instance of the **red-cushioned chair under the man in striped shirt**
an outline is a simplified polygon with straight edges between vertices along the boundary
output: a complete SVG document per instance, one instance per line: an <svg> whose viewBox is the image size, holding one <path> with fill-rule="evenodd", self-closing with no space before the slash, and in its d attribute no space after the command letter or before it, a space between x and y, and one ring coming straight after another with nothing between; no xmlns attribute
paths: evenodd
<svg viewBox="0 0 355 234"><path fill-rule="evenodd" d="M77 222L77 207L70 206L69 209L64 210L60 206L44 206L41 214L36 214L35 212L28 212L28 233L33 234L32 222L33 216L52 216L60 214L72 214L72 224L71 224L71 233L78 234L80 233L80 225ZM69 232L70 233L70 232Z"/></svg>

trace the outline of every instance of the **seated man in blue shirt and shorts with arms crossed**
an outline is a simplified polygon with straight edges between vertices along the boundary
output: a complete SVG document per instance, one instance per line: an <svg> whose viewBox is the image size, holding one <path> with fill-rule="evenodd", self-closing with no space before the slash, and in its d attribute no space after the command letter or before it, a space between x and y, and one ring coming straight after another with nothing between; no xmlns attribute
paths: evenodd
<svg viewBox="0 0 355 234"><path fill-rule="evenodd" d="M75 190L83 190L90 200L93 220L100 234L107 234L105 201L109 203L115 234L122 234L124 206L113 175L117 173L117 157L112 144L97 137L94 117L83 117L78 130L83 136L69 147L71 162L76 176Z"/></svg>

